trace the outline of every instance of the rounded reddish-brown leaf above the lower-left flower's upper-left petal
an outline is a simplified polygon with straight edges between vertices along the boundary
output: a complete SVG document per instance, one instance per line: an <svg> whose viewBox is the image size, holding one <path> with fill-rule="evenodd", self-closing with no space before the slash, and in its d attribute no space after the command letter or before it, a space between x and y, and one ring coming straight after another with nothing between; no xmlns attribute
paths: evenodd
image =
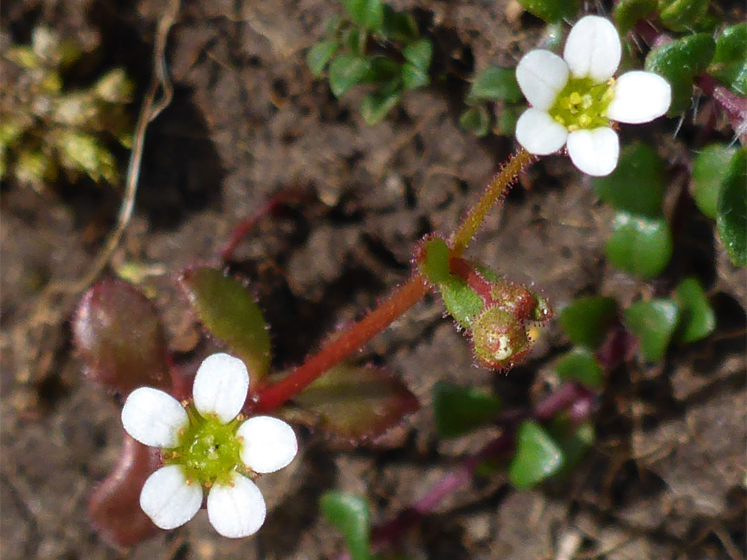
<svg viewBox="0 0 747 560"><path fill-rule="evenodd" d="M122 280L103 281L81 299L72 322L75 349L91 379L128 393L167 389L167 345L155 307Z"/></svg>

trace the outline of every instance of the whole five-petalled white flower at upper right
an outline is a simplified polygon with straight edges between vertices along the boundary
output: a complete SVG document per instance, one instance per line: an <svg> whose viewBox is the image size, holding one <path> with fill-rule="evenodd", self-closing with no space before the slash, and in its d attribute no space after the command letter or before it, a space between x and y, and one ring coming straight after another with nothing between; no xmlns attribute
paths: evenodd
<svg viewBox="0 0 747 560"><path fill-rule="evenodd" d="M672 88L654 72L626 72L615 80L622 45L615 26L599 16L571 28L563 57L530 51L516 80L531 108L516 122L516 140L527 152L548 155L567 144L574 165L589 175L609 175L620 143L610 121L639 124L662 116Z"/></svg>

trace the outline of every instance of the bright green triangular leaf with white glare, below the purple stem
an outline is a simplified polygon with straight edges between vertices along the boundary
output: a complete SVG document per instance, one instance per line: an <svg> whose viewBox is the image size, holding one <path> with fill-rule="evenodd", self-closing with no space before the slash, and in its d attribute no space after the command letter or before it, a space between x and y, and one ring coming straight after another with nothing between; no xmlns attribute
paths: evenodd
<svg viewBox="0 0 747 560"><path fill-rule="evenodd" d="M524 420L516 432L516 453L509 464L509 480L519 490L553 476L563 464L557 442L534 420Z"/></svg>

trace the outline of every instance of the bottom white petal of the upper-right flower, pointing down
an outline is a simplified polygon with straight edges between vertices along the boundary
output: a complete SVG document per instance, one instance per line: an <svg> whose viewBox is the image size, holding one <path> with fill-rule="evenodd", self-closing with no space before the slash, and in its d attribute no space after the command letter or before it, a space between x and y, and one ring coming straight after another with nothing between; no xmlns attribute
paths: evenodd
<svg viewBox="0 0 747 560"><path fill-rule="evenodd" d="M620 140L612 128L577 130L568 134L568 155L586 175L610 175L617 167Z"/></svg>

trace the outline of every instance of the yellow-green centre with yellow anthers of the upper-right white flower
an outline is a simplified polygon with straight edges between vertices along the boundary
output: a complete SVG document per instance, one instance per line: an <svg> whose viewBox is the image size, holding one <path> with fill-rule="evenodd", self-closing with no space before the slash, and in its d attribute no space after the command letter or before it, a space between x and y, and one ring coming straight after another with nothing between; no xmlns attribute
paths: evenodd
<svg viewBox="0 0 747 560"><path fill-rule="evenodd" d="M591 78L568 78L548 113L568 131L609 126L607 108L615 94L615 78L595 84Z"/></svg>

